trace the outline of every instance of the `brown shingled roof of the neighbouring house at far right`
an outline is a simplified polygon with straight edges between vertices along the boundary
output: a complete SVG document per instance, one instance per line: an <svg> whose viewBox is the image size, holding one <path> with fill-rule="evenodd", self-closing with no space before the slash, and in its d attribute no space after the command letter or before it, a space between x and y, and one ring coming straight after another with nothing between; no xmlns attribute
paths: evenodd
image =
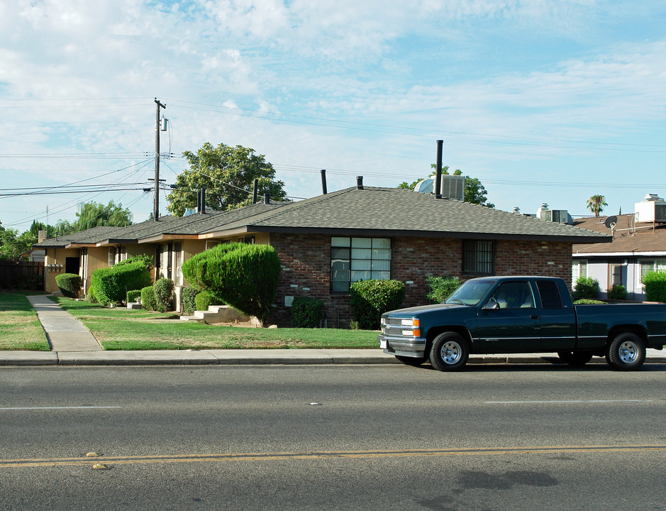
<svg viewBox="0 0 666 511"><path fill-rule="evenodd" d="M605 216L592 216L576 219L574 225L611 235L611 229L604 225ZM594 254L605 255L609 253L634 254L666 254L666 226L651 223L638 223L634 226L633 214L618 216L615 226L613 243L599 245L597 243L582 243L574 246L574 255Z"/></svg>

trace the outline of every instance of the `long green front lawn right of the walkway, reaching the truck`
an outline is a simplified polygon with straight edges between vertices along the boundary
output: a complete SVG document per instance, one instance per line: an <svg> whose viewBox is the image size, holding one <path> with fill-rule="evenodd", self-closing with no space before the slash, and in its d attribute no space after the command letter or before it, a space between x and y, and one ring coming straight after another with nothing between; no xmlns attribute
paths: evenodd
<svg viewBox="0 0 666 511"><path fill-rule="evenodd" d="M172 314L108 309L57 297L107 350L377 348L377 332L338 329L257 329L170 319Z"/></svg>

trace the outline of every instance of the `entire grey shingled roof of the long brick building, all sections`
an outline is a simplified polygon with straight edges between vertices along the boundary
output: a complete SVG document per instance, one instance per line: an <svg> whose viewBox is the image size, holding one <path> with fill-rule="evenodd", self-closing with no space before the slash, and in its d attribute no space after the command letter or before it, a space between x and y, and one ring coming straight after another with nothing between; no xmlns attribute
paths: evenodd
<svg viewBox="0 0 666 511"><path fill-rule="evenodd" d="M95 228L100 229L100 228ZM347 188L300 202L253 204L231 211L184 217L164 216L111 231L82 231L71 243L119 244L177 236L231 236L235 233L330 233L354 236L486 238L572 243L606 243L606 233L540 221L400 188ZM94 232L91 232L94 231ZM61 238L65 239L65 238ZM70 239L70 238L68 238ZM35 248L52 246L52 240Z"/></svg>

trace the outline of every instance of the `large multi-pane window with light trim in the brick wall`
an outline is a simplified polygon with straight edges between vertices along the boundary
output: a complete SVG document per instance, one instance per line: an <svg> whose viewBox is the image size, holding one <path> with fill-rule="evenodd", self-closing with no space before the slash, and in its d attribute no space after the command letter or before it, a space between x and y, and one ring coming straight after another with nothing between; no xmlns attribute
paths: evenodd
<svg viewBox="0 0 666 511"><path fill-rule="evenodd" d="M331 292L349 292L357 280L390 278L390 238L331 238Z"/></svg>

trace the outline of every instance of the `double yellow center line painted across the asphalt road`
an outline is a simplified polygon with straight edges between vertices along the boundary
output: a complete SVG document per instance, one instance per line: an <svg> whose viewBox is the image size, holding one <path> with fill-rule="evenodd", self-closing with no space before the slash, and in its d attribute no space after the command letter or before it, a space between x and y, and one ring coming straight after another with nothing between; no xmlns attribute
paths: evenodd
<svg viewBox="0 0 666 511"><path fill-rule="evenodd" d="M0 460L0 468L75 466L104 463L109 465L146 463L196 463L211 461L264 461L308 460L335 458L394 458L423 456L490 456L497 454L562 454L562 453L611 453L637 451L666 451L666 445L601 445L601 446L536 446L491 447L477 449L406 449L403 451L320 451L320 452L270 452L230 454L176 454L161 456L99 456L93 459L77 458L26 458Z"/></svg>

